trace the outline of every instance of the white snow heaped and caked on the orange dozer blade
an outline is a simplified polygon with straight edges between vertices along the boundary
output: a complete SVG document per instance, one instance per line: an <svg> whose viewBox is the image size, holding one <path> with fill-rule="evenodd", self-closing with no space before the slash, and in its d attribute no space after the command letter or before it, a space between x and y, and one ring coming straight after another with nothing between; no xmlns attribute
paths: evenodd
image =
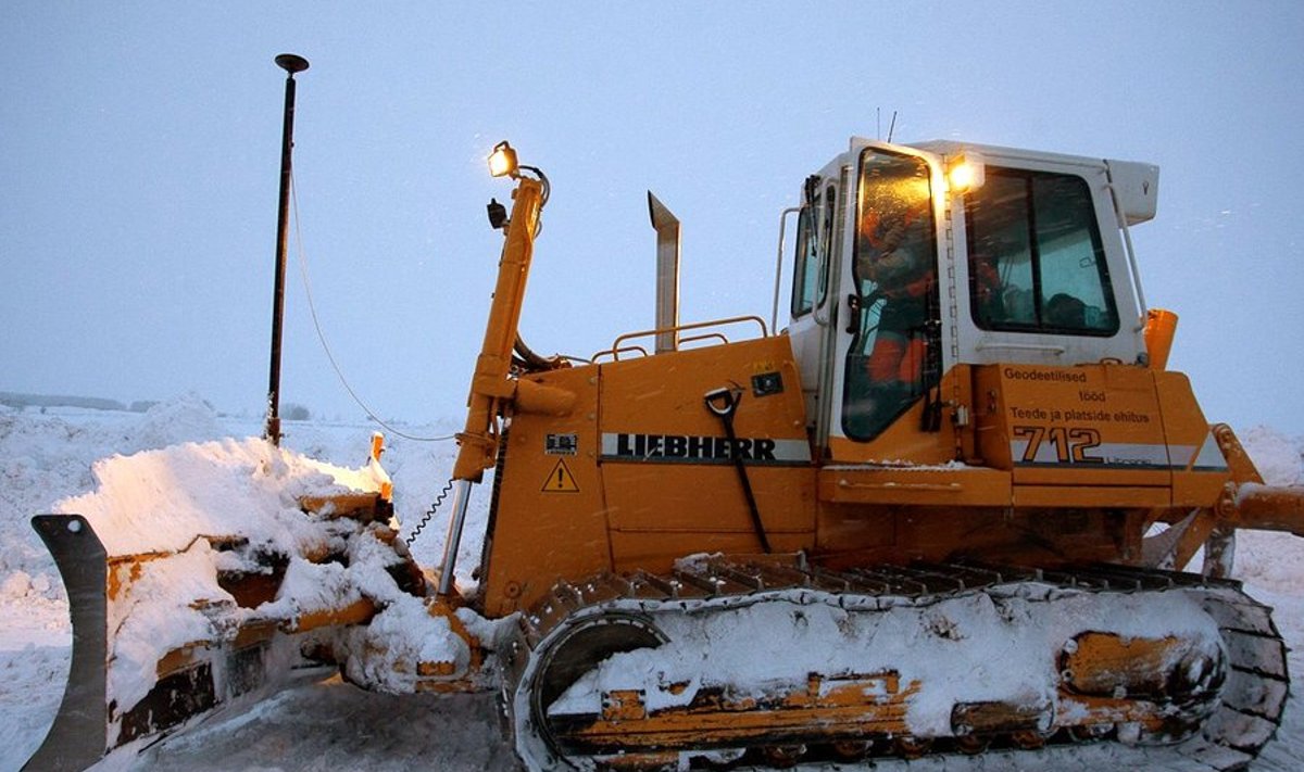
<svg viewBox="0 0 1304 772"><path fill-rule="evenodd" d="M383 477L374 464L348 469L248 438L116 455L96 462L94 476L94 492L67 498L56 510L85 516L111 562L132 561L129 587L108 606L108 699L119 705L134 705L149 694L168 652L232 640L250 621L292 621L364 599L381 609L377 629L340 635L356 640L353 648L364 653L383 648L381 642L390 647L368 669L353 665L360 682L411 691L396 679L403 669L396 662L404 656L467 659L447 623L432 619L386 571L398 557L376 535L377 526L300 509L306 496L377 492ZM232 542L246 548L215 549ZM245 609L222 588L218 575L266 572L252 553L284 556L288 562L276 596ZM347 561L321 559L327 554ZM351 657L357 661L360 656Z"/></svg>

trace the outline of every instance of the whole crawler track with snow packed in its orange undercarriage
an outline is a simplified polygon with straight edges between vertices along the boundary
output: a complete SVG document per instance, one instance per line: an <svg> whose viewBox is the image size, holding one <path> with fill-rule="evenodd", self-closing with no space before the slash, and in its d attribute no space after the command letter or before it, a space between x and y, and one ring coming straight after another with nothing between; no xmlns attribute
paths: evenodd
<svg viewBox="0 0 1304 772"><path fill-rule="evenodd" d="M962 621L957 629L948 627L951 622L939 623L964 619L968 612L957 617L957 609L995 609L996 621L987 627L968 623L970 629ZM923 709L938 703L936 689L944 689L939 685L948 673L945 657L923 653L932 651L928 647L970 646L974 648L955 649L970 656L990 652L995 646L991 642L962 642L1011 630L1022 632L1020 625L1050 626L1052 636L1060 635L1059 619L1084 609L1097 618L1085 621L1073 640L1088 644L1093 635L1106 638L1106 657L1112 651L1141 651L1119 648L1119 642L1133 646L1129 636L1134 625L1120 622L1111 627L1111 614L1145 617L1176 609L1194 618L1193 630L1200 630L1189 634L1192 639L1202 635L1213 643L1201 648L1180 635L1176 643L1174 636L1153 639L1149 643L1155 651L1174 661L1180 659L1180 664L1157 669L1162 676L1158 681L1154 673L1133 674L1127 689L1119 686L1103 696L1099 687L1085 690L1094 696L1082 695L1082 683L1090 677L1069 666L1077 666L1072 659L1082 651L1077 644L1064 651L1051 647L1046 659L1059 660L1043 664L1054 683L1048 694L1034 694L1024 702L960 694L951 699L944 694L948 709L934 708L931 716ZM799 619L811 630L829 617L846 630L841 639L829 639L825 632L794 629L792 649L772 657L775 672L759 678L768 691L758 691L755 683L732 683L724 673L715 674L711 685L709 672L700 681L675 679L674 662L699 655L728 659L730 649L755 643L746 636L728 639L719 630L708 630L704 636L685 636L683 630L694 625L709 627L729 616L756 614ZM1029 614L1030 621L1020 622L1020 614ZM914 655L906 647L906 653L884 655L887 661L895 662L893 656L901 660L900 668L885 668L884 656L876 652L891 648L888 630L900 626L889 627L889 622L901 619L915 635L911 646L919 652L918 661L911 660ZM862 636L855 638L852 627L868 632L862 630ZM875 643L863 647L866 666L848 665L848 649L871 639ZM700 640L711 644L702 647ZM810 653L820 647L828 651ZM647 670L649 676L629 676L629 689L617 689L602 678L610 681L613 672L615 678L623 677L619 668L600 670L610 655L626 656L630 664L664 657L665 666L657 662ZM750 656L765 660L768 655ZM801 662L786 661L803 656L835 664L827 670L802 670ZM792 678L784 672L789 665L807 677L801 682ZM1017 679L1029 666L1022 661L979 665L996 670L998 682L1001 668ZM926 676L913 678L917 670ZM1108 741L1106 755L1120 763L1237 769L1273 738L1288 696L1286 647L1271 610L1244 595L1239 583L1119 566L1043 571L957 563L829 571L709 561L665 575L604 574L583 583L558 584L523 617L505 676L507 719L518 754L532 769L675 768L682 762L786 767L802 760L845 762L867 755L999 756L1047 746L1055 746L1047 749L1055 754L1072 754L1076 746L1099 749L1098 741ZM601 707L587 712L559 708L575 702L575 691L585 696L588 681L582 683L582 678L593 681L588 696L600 694ZM1159 681L1162 686L1153 686ZM968 687L962 681L947 683Z"/></svg>

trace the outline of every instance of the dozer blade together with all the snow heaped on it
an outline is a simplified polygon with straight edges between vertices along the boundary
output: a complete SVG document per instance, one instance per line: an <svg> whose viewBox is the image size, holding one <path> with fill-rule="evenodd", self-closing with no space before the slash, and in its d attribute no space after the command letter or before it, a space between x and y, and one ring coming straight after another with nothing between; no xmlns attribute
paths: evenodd
<svg viewBox="0 0 1304 772"><path fill-rule="evenodd" d="M484 689L456 599L429 592L398 539L378 456L348 469L253 438L186 443L104 459L95 492L34 518L73 664L27 768L125 760L336 670L391 694Z"/></svg>

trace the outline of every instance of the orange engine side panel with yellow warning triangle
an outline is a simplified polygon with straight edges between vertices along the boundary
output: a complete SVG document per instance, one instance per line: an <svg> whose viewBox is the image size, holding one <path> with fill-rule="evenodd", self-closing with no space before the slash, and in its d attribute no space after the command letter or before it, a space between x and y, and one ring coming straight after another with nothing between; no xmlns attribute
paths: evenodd
<svg viewBox="0 0 1304 772"><path fill-rule="evenodd" d="M578 399L569 416L511 420L481 565L489 617L529 605L559 578L612 565L597 468L597 373L587 366L529 377Z"/></svg>

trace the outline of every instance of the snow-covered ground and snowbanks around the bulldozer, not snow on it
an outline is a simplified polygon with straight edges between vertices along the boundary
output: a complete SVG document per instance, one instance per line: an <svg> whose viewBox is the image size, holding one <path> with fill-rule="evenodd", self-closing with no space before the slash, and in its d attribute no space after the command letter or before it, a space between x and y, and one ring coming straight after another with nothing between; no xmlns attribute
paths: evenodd
<svg viewBox="0 0 1304 772"><path fill-rule="evenodd" d="M452 425L404 426L419 436L449 434ZM68 606L52 562L27 519L94 486L91 463L184 441L244 437L259 423L218 417L201 399L185 396L145 415L99 411L0 407L0 772L17 769L40 743L57 709L68 670ZM340 466L360 466L370 426L287 424L284 445ZM1304 438L1269 429L1243 441L1270 482L1304 484ZM452 443L391 437L385 466L394 477L396 507L411 528L433 501L452 463ZM482 529L488 488L475 492L468 533ZM420 562L442 552L446 520L437 516L416 542ZM459 575L468 578L479 541L467 539ZM1304 649L1304 540L1282 535L1241 535L1237 575L1252 595L1275 606L1278 625L1294 649ZM1292 651L1295 673L1304 656ZM1256 769L1304 768L1304 711L1287 705L1278 739ZM923 759L879 767L910 769L1063 769L1125 763L1110 752L1086 760L1056 755L1000 755L982 760ZM331 679L282 692L250 712L223 717L146 751L137 769L509 769L510 747L501 739L492 696L394 698ZM840 767L846 768L846 767Z"/></svg>

